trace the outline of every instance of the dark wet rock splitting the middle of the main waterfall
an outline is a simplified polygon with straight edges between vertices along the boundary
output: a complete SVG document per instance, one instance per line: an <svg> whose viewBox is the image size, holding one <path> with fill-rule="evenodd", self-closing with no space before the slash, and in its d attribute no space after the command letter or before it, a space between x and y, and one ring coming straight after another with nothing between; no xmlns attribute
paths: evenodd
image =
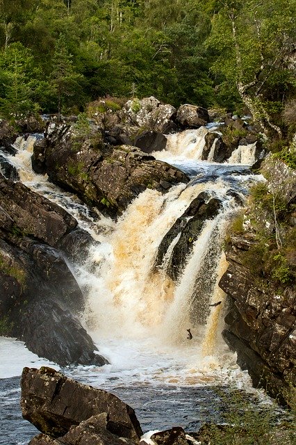
<svg viewBox="0 0 296 445"><path fill-rule="evenodd" d="M188 256L192 252L195 241L202 231L202 227L204 227L204 223L206 220L217 216L221 206L222 203L217 198L210 199L207 193L199 193L188 209L165 234L158 248L155 266L163 264L167 250L176 236L179 236L167 265L167 274L172 280L177 280Z"/></svg>

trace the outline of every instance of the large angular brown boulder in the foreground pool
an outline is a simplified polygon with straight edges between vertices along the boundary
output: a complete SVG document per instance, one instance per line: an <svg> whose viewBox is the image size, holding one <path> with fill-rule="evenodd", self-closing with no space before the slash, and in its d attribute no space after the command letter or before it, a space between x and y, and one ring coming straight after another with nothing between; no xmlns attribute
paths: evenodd
<svg viewBox="0 0 296 445"><path fill-rule="evenodd" d="M66 442L62 443L82 445L84 442L67 442L67 439L72 440L75 436L81 440L83 427L88 435L91 430L100 434L102 428L111 435L139 442L142 429L134 410L113 394L75 382L47 367L40 370L24 368L21 386L23 417L45 435L59 438L59 441L65 436ZM70 430L72 426L79 428ZM113 436L110 437L113 440Z"/></svg>

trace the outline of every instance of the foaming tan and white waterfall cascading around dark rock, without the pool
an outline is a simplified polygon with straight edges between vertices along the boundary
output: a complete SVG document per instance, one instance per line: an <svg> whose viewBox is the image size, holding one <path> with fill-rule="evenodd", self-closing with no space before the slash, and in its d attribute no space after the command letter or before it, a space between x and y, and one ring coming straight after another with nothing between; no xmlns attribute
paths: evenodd
<svg viewBox="0 0 296 445"><path fill-rule="evenodd" d="M33 173L33 138L26 142L19 138L16 156L7 156L24 184L72 213L99 241L90 248L84 264L70 267L87 300L83 323L111 363L93 372L96 381L107 379L109 387L114 375L125 382L128 379L129 384L140 378L179 385L220 382L221 369L225 380L242 375L236 357L220 336L224 294L217 283L227 267L222 252L225 230L256 177L242 165L233 170L231 165L200 161L206 133L208 129L202 127L167 136L167 149L156 157L177 164L192 180L164 195L147 189L117 223L50 184L47 176ZM172 240L161 266L156 267L158 247L202 192L208 199L219 199L222 207L217 216L205 221L174 282L167 264L181 232ZM210 306L218 301L222 303L217 307ZM189 327L193 334L190 341L186 338ZM229 369L233 370L231 377Z"/></svg>

